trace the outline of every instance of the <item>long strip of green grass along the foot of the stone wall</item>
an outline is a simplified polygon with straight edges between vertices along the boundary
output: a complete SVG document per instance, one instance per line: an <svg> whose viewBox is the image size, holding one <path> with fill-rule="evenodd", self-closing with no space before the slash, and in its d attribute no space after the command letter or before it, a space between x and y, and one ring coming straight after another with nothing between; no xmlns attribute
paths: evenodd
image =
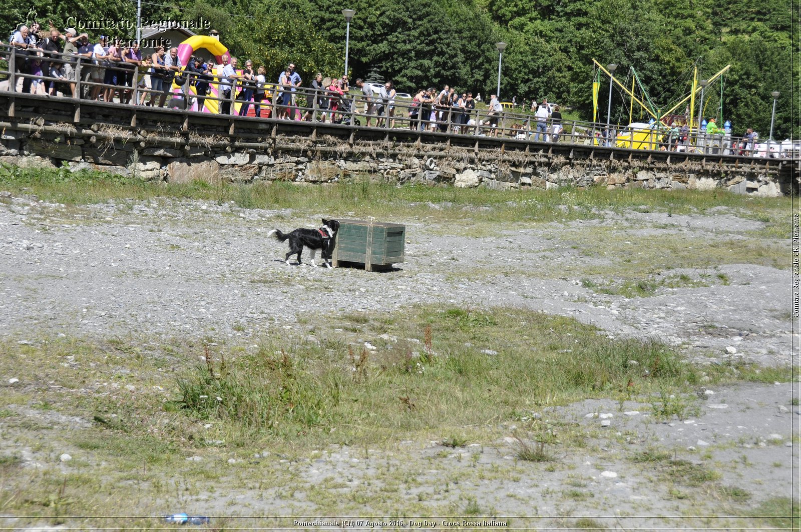
<svg viewBox="0 0 801 532"><path fill-rule="evenodd" d="M376 216L382 220L425 218L452 224L452 232L492 234L498 222L540 224L602 218L604 211L703 213L721 205L770 220L771 232L789 235L789 199L752 198L725 191L650 191L603 187L586 190L557 188L548 191L521 188L493 191L484 187L459 189L417 184L395 186L380 179L342 179L327 187L305 187L295 183L256 182L210 185L155 183L99 171L70 172L68 169L22 169L0 167L0 186L14 195L34 194L39 199L67 206L159 199L203 200L240 208L291 208L296 212L328 212L332 216ZM435 208L432 208L432 205ZM469 218L465 218L465 213ZM743 215L745 216L745 215ZM780 229L779 229L780 228ZM772 233L771 233L772 234Z"/></svg>

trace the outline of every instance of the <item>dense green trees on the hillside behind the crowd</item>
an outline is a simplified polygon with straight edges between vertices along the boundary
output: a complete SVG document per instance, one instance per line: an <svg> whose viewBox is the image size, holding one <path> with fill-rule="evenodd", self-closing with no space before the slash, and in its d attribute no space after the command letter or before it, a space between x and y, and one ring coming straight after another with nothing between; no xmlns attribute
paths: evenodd
<svg viewBox="0 0 801 532"><path fill-rule="evenodd" d="M288 61L298 65L307 81L317 71L341 75L345 21L340 10L346 7L341 0L174 2L143 2L143 15L206 18L235 54L263 64L270 77L277 78ZM705 79L731 64L723 83L707 87L707 114L730 119L735 134L754 127L767 138L771 91L779 91L775 137L801 134L799 40L791 37L798 18L790 0L735 4L714 0L349 0L347 7L356 10L350 32L351 75L393 79L401 91L449 83L489 95L497 84L495 42L503 41L508 46L503 54L501 99L547 97L591 119L593 58L605 65L618 64L616 78L626 87L631 84L629 69L634 67L655 106L662 109L689 93L694 66L698 79ZM24 5L0 0L0 12L6 14L0 29L9 34L16 22L30 20L30 13L44 26L52 19L62 28L70 15L83 20L133 19L135 10L135 0L31 0ZM602 77L600 82L608 87L609 79ZM602 89L602 117L607 95ZM626 123L628 98L617 88L613 105L613 121Z"/></svg>

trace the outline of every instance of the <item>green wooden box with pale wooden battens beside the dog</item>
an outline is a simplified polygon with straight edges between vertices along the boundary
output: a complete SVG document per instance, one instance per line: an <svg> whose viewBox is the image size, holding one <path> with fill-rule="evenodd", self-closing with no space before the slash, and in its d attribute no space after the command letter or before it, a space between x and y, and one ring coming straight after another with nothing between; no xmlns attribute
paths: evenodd
<svg viewBox="0 0 801 532"><path fill-rule="evenodd" d="M372 272L374 266L403 262L406 226L366 220L339 220L332 263L359 262Z"/></svg>

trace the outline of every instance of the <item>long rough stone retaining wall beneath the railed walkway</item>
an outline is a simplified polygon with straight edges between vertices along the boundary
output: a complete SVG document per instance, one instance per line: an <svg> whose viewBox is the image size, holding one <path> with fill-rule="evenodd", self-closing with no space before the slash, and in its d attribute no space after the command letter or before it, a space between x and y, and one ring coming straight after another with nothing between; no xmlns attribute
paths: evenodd
<svg viewBox="0 0 801 532"><path fill-rule="evenodd" d="M782 195L791 172L776 165L704 163L698 159L571 159L550 152L397 145L375 141L279 136L260 142L219 136L156 135L119 127L77 129L69 124L20 124L2 130L0 162L23 167L83 168L135 175L141 179L191 183L201 179L248 183L257 180L333 183L369 176L393 183L455 187L550 188L560 186L725 188L740 193ZM797 179L797 178L794 178ZM795 185L797 186L797 185Z"/></svg>

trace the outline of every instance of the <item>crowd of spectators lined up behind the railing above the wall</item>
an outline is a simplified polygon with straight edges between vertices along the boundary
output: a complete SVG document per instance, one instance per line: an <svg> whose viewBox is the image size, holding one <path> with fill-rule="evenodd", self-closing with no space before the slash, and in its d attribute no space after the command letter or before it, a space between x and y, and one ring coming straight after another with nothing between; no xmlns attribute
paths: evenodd
<svg viewBox="0 0 801 532"><path fill-rule="evenodd" d="M222 56L219 65L196 57L183 65L177 48L167 50L159 46L151 54L143 54L139 42L107 36L101 36L93 44L88 34L78 33L74 28L61 32L52 23L49 30L42 30L35 22L30 28L19 26L10 38L10 46L14 53L14 71L25 75L22 92L26 93L54 96L60 92L74 98L116 100L152 107L184 107L191 96L201 109L204 100L210 97L212 84L217 84L219 105L214 108L221 114L231 114L234 101L238 103L239 115L248 115L252 105L257 117L262 116L266 108L266 116L277 119L337 123L343 122L352 111L348 75L324 79L317 73L310 84L313 92L307 93L306 111L301 112L297 91L303 79L293 63L271 83L264 67L254 70L249 59L241 69L238 58L227 55ZM78 94L78 70L80 79L90 82L84 85L86 88L81 94ZM177 94L174 83L179 87ZM191 94L185 91L187 83L193 87ZM397 93L393 83L383 83L379 91L363 79L356 79L354 85L360 101L364 102L366 125L372 126L375 119L377 127L396 127ZM138 98L132 101L137 92ZM488 109L481 116L475 111L477 102L481 102L481 95L473 98L471 91L456 91L449 85L439 91L433 87L420 89L408 106L404 106L408 113L406 120L409 128L418 131L460 133L470 128L478 135L497 136L501 130L498 122L505 111L497 95L489 96ZM512 105L513 108L517 106L517 97L512 99ZM507 133L517 139L558 142L562 135L560 107L542 99L540 103L532 101L529 111L530 118L525 123L513 123ZM732 141L731 125L727 122L723 128L718 128L714 119L702 121L701 135L693 135L684 118L672 120L666 131L660 131L658 149L696 151L711 142L725 155L745 155L755 149L758 141L753 129L748 129L743 139ZM600 127L594 135L598 144L612 146L617 131Z"/></svg>

